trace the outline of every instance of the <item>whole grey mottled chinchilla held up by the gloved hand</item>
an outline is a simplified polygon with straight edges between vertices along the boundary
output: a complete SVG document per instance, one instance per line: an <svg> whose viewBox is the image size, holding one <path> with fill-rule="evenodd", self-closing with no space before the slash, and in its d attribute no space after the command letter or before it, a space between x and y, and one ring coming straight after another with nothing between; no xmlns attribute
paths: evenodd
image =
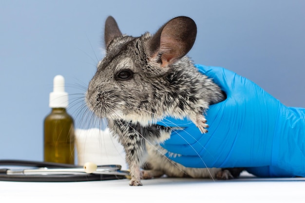
<svg viewBox="0 0 305 203"><path fill-rule="evenodd" d="M154 124L166 116L188 117L204 133L205 111L224 99L221 89L186 56L195 37L196 25L188 17L173 18L155 35L140 37L121 35L114 18L106 20L106 55L89 83L86 102L97 116L107 118L124 146L130 185L142 185L140 167L147 162L152 170L144 172L144 178L162 173L197 177L162 155L158 143L168 139L172 129ZM153 156L147 156L146 146ZM220 169L194 170L204 171L195 172L204 174L201 177L215 177Z"/></svg>

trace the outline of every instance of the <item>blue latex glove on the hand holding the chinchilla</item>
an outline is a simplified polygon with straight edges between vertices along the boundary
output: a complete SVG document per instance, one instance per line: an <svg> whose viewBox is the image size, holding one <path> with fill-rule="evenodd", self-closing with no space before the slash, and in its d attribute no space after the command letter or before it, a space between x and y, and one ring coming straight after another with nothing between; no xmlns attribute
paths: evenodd
<svg viewBox="0 0 305 203"><path fill-rule="evenodd" d="M207 111L209 132L189 120L166 118L174 130L162 147L181 154L173 161L187 167L247 167L263 177L305 176L305 109L291 108L238 74L196 65L213 78L227 99Z"/></svg>

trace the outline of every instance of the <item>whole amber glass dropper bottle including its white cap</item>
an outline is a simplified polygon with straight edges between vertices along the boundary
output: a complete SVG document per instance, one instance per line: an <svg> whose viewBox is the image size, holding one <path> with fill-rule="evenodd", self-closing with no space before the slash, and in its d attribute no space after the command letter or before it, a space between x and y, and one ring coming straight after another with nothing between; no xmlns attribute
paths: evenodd
<svg viewBox="0 0 305 203"><path fill-rule="evenodd" d="M66 111L68 93L64 77L56 75L53 82L49 101L52 110L44 119L44 161L74 164L74 121Z"/></svg>

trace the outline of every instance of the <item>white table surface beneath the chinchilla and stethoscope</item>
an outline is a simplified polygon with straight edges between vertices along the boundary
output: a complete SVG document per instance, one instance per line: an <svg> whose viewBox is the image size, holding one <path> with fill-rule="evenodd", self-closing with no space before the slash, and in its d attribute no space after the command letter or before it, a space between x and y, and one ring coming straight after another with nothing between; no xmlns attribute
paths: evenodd
<svg viewBox="0 0 305 203"><path fill-rule="evenodd" d="M0 181L0 203L305 203L305 178L261 179L243 174L228 181L159 178L143 180L143 186L128 183L127 179L70 183Z"/></svg>

